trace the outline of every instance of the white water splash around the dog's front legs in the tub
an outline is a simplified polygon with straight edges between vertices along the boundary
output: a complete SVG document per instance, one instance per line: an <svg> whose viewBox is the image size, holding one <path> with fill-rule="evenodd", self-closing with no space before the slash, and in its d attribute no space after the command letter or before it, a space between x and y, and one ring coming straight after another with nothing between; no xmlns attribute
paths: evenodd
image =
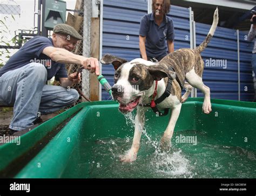
<svg viewBox="0 0 256 196"><path fill-rule="evenodd" d="M144 110L143 110L144 112ZM126 125L134 129L135 126L135 115L132 113L125 114ZM144 115L145 118L145 115ZM146 121L146 120L145 120ZM141 143L141 147L147 146L146 157L143 160L145 167L150 166L150 170L154 173L158 173L158 177L166 178L192 178L193 174L191 170L193 166L190 165L190 161L185 157L181 149L172 148L169 151L163 152L160 148L160 138L153 137L147 133L147 127L144 127L142 137L146 138ZM129 140L129 139L128 139ZM132 141L132 139L131 139ZM127 138L126 138L127 143ZM153 152L152 152L153 150ZM124 153L127 153L125 151ZM137 162L142 162L138 160ZM141 165L141 166L142 166Z"/></svg>

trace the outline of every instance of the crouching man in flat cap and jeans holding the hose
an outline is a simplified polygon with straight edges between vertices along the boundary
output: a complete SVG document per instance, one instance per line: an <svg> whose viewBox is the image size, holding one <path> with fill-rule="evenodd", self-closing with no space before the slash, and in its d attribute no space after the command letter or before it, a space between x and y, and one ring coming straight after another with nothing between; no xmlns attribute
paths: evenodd
<svg viewBox="0 0 256 196"><path fill-rule="evenodd" d="M82 39L73 27L58 24L52 38L31 38L0 69L0 98L14 104L10 132L36 124L38 112L50 114L78 99L77 91L68 87L79 83L80 76L68 75L65 63L82 65L99 75L97 59L71 53ZM53 76L61 86L46 85Z"/></svg>

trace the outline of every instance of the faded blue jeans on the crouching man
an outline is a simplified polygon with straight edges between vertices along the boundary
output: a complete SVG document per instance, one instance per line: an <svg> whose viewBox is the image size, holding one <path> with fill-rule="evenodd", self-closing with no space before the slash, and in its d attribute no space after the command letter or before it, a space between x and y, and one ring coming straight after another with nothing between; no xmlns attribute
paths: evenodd
<svg viewBox="0 0 256 196"><path fill-rule="evenodd" d="M50 114L75 102L79 94L75 89L45 85L47 72L44 65L32 62L4 73L0 77L0 97L14 104L14 117L10 129L23 130L41 114Z"/></svg>

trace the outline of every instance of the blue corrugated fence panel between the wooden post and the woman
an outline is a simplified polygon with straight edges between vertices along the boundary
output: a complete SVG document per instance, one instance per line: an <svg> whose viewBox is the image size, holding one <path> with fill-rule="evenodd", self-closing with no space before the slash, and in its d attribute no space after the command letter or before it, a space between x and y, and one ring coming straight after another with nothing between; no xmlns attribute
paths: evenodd
<svg viewBox="0 0 256 196"><path fill-rule="evenodd" d="M102 55L110 53L127 60L139 58L139 23L147 13L147 2L104 0L103 3ZM112 86L113 66L103 65L102 74ZM102 100L110 99L102 88Z"/></svg>

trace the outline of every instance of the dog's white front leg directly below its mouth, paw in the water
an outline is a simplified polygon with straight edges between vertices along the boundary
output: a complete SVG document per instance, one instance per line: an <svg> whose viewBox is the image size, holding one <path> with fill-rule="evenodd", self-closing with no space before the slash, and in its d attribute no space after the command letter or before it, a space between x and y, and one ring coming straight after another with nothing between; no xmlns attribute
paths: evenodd
<svg viewBox="0 0 256 196"><path fill-rule="evenodd" d="M133 162L137 158L137 153L139 150L139 144L140 144L140 137L142 136L142 131L144 128L145 123L145 116L144 111L141 107L137 108L137 114L135 117L135 130L134 130L134 136L132 141L132 147L131 149L121 157L122 162Z"/></svg>

